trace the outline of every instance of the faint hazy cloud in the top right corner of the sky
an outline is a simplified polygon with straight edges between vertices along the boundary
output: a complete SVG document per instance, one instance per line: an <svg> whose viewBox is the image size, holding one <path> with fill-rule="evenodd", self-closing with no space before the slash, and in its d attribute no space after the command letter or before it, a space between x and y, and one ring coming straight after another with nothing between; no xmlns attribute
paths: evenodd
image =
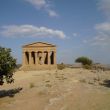
<svg viewBox="0 0 110 110"><path fill-rule="evenodd" d="M110 0L97 0L98 9L101 10L108 18L110 18Z"/></svg>

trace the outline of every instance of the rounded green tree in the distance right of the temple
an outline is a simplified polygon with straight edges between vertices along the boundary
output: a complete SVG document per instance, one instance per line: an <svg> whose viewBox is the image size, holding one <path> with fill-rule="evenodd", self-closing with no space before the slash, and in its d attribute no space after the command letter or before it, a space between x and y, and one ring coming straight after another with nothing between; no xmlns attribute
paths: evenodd
<svg viewBox="0 0 110 110"><path fill-rule="evenodd" d="M82 63L83 65L91 65L92 60L88 57L79 57L75 60L75 62Z"/></svg>

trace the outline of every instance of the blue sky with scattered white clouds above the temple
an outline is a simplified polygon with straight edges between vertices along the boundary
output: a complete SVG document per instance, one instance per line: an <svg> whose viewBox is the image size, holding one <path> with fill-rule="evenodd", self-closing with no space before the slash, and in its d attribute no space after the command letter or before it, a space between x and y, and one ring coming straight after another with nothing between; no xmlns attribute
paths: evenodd
<svg viewBox="0 0 110 110"><path fill-rule="evenodd" d="M55 44L57 63L110 64L110 0L0 0L0 46L21 63L32 42Z"/></svg>

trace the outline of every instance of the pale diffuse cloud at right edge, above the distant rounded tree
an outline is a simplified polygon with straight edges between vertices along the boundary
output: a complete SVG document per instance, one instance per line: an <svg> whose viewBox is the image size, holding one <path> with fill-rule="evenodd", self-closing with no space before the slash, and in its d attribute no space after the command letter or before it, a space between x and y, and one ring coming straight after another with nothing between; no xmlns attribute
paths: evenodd
<svg viewBox="0 0 110 110"><path fill-rule="evenodd" d="M83 43L99 46L110 46L110 23L100 23L95 25L96 36L92 39L86 39Z"/></svg>

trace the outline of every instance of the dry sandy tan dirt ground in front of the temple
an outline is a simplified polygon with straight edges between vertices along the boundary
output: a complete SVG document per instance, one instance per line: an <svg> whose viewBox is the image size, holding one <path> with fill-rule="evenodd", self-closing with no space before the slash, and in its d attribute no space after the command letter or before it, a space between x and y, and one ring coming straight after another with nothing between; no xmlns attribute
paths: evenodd
<svg viewBox="0 0 110 110"><path fill-rule="evenodd" d="M110 71L17 71L0 87L0 110L110 110Z"/></svg>

